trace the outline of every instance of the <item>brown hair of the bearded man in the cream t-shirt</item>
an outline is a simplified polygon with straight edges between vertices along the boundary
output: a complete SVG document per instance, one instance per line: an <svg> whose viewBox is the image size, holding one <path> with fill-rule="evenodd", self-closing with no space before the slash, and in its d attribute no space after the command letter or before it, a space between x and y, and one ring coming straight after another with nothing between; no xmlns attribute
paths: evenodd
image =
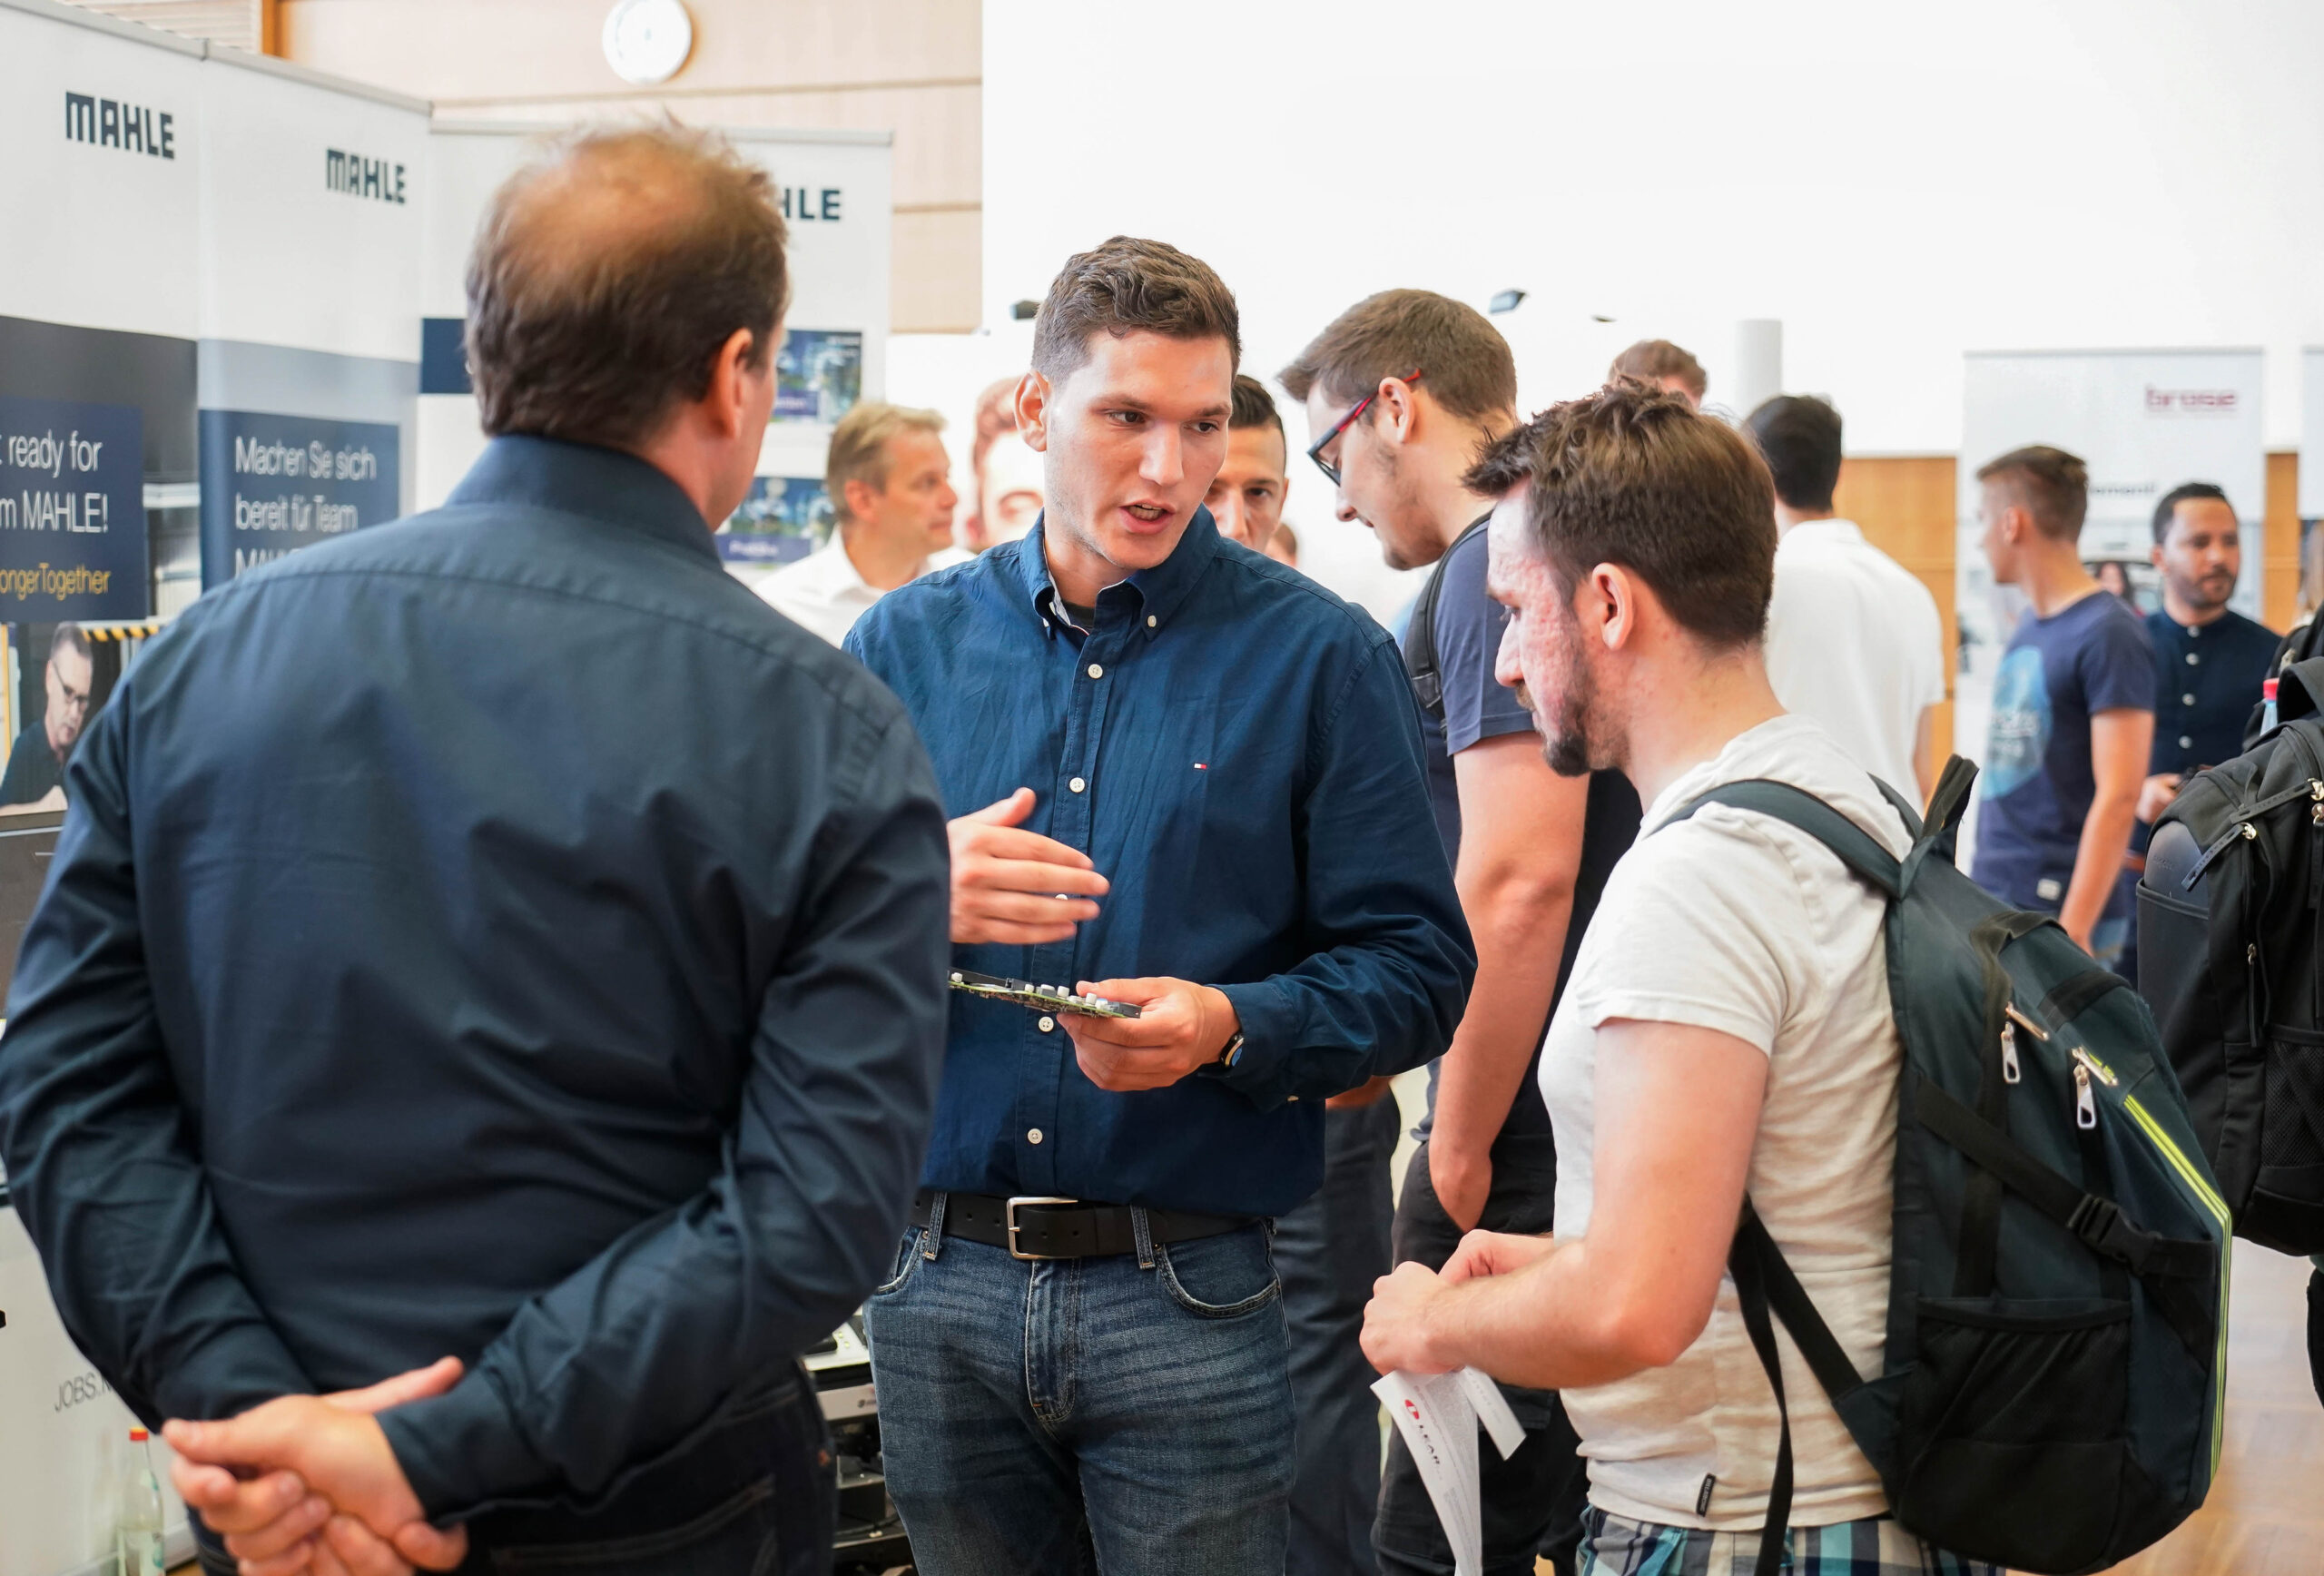
<svg viewBox="0 0 2324 1576"><path fill-rule="evenodd" d="M1618 563L1713 651L1766 635L1776 483L1724 421L1659 388L1613 384L1541 411L1462 479L1487 497L1527 481L1527 518L1564 595Z"/></svg>

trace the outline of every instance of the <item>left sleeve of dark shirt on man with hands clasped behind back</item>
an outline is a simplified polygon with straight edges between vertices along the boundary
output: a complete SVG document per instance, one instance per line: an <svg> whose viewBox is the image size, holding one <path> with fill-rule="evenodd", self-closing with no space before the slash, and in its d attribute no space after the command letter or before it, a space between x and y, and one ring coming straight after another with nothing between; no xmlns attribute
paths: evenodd
<svg viewBox="0 0 2324 1576"><path fill-rule="evenodd" d="M158 1427L314 1383L242 1283L186 1137L144 967L121 702L72 755L72 809L16 958L0 1158L65 1332Z"/></svg>

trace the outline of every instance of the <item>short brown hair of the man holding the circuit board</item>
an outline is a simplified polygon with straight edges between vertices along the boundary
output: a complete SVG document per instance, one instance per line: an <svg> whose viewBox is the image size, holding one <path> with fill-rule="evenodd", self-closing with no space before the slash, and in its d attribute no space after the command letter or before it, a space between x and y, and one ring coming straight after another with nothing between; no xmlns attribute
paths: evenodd
<svg viewBox="0 0 2324 1576"><path fill-rule="evenodd" d="M1243 365L1243 325L1227 281L1167 242L1116 235L1057 270L1032 321L1032 370L1062 384L1090 360L1090 335L1134 332L1225 339L1229 365Z"/></svg>

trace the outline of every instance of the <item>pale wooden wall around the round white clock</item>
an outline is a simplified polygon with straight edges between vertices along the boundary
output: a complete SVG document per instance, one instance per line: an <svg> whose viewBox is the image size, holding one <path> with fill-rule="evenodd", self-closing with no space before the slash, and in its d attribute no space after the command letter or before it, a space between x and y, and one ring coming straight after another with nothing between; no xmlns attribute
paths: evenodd
<svg viewBox="0 0 2324 1576"><path fill-rule="evenodd" d="M695 53L655 88L604 63L607 0L274 0L281 53L435 100L449 119L895 132L895 332L967 332L983 302L981 0L688 0Z"/></svg>

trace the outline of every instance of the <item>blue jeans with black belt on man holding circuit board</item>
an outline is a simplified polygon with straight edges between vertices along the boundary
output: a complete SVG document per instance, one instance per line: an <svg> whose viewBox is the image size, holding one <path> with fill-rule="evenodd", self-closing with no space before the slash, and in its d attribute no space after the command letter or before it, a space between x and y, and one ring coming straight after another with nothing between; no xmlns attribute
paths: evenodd
<svg viewBox="0 0 2324 1576"><path fill-rule="evenodd" d="M913 1227L865 1332L920 1576L1281 1576L1267 1227L1041 1262Z"/></svg>

